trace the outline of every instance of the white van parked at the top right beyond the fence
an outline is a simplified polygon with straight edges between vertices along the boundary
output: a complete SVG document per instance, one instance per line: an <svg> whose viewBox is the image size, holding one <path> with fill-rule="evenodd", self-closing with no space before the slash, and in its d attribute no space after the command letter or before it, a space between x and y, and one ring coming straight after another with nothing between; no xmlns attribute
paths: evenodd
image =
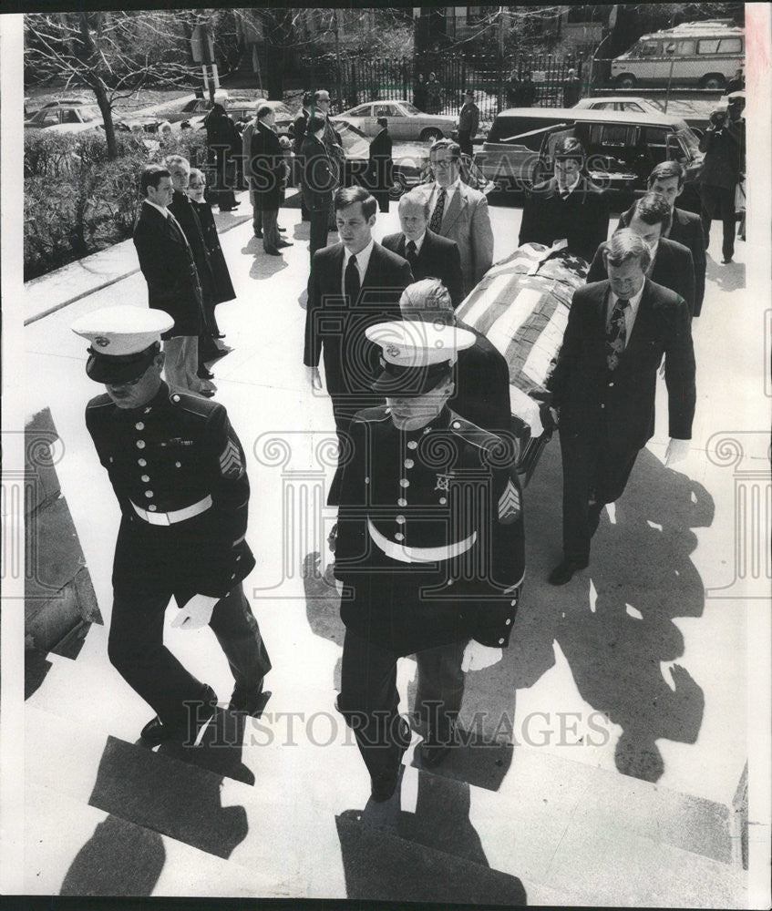
<svg viewBox="0 0 772 911"><path fill-rule="evenodd" d="M686 22L639 38L612 60L612 81L620 88L678 86L724 88L745 63L744 29L731 19Z"/></svg>

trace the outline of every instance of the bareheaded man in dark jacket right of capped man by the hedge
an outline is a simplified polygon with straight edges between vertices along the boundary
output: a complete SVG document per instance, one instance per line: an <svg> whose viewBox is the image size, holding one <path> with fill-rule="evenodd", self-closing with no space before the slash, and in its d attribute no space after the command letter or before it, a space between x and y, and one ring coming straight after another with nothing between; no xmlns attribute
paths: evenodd
<svg viewBox="0 0 772 911"><path fill-rule="evenodd" d="M262 212L262 249L269 256L281 256L281 248L292 247L292 243L282 240L277 224L287 169L282 144L273 132L274 119L273 107L257 106L247 167L252 180L253 205Z"/></svg>

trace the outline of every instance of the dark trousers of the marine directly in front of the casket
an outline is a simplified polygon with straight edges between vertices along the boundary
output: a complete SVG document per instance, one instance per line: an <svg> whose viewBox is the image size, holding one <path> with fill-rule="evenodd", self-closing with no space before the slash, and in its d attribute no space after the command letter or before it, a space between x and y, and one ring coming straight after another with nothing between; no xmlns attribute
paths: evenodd
<svg viewBox="0 0 772 911"><path fill-rule="evenodd" d="M419 651L417 714L428 722L427 739L447 742L464 696L461 658L466 641ZM354 731L371 778L396 773L402 748L396 651L383 649L346 630L338 709Z"/></svg>

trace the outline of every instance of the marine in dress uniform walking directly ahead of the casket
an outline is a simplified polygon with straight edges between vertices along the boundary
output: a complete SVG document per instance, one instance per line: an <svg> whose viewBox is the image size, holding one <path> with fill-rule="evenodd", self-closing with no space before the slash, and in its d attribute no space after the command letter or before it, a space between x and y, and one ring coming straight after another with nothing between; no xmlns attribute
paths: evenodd
<svg viewBox="0 0 772 911"><path fill-rule="evenodd" d="M453 744L464 672L501 658L524 569L516 453L447 406L459 349L453 326L386 322L374 384L387 404L351 425L338 511L335 577L346 633L338 709L355 731L372 783L388 800L409 743L397 714L396 662L416 653L422 762Z"/></svg>

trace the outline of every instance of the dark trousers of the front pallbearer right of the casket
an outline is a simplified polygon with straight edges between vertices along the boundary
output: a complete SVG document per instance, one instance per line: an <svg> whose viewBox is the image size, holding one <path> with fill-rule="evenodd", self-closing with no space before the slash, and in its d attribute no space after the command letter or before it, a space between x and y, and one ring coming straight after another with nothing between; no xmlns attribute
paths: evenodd
<svg viewBox="0 0 772 911"><path fill-rule="evenodd" d="M587 438L561 430L565 559L589 561L602 508L622 496L639 451L613 445L605 433Z"/></svg>

